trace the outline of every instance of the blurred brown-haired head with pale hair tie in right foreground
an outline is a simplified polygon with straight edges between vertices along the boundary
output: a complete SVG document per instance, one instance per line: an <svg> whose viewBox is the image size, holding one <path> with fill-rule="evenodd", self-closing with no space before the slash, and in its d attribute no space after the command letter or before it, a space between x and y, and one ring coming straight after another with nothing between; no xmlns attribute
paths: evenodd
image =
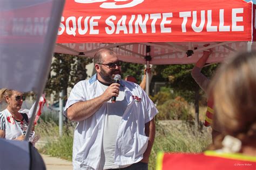
<svg viewBox="0 0 256 170"><path fill-rule="evenodd" d="M221 66L218 74L211 84L217 112L213 125L218 123L222 133L213 148L256 158L256 53L241 53ZM226 137L232 139L229 146Z"/></svg>

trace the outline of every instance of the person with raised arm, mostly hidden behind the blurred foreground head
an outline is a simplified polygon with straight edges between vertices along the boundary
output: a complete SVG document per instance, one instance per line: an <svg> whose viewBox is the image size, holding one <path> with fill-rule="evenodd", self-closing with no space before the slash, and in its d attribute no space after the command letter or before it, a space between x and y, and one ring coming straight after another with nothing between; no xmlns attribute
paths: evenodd
<svg viewBox="0 0 256 170"><path fill-rule="evenodd" d="M211 55L212 50L204 51L203 56L198 60L198 62L194 65L191 75L193 79L197 82L200 88L207 93L208 85L210 84L210 79L208 79L203 73L201 73L201 69L205 65L208 57ZM212 94L210 93L207 97L207 111L204 125L206 127L212 127L212 119L213 119L213 110L214 102ZM219 131L216 127L212 127L212 139L214 139L219 134Z"/></svg>

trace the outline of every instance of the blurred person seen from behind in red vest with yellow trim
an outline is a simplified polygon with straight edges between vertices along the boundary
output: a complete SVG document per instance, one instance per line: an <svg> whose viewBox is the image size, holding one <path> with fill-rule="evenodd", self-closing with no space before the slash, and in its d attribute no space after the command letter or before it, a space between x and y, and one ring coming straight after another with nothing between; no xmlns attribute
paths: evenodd
<svg viewBox="0 0 256 170"><path fill-rule="evenodd" d="M160 153L159 169L256 169L256 53L240 53L221 65L210 84L221 134L209 151ZM185 162L184 162L185 161Z"/></svg>

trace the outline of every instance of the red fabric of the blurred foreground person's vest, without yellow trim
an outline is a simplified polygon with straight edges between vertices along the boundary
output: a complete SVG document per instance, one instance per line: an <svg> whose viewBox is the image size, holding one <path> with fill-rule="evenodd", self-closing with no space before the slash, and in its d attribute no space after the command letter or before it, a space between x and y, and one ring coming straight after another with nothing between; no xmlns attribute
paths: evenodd
<svg viewBox="0 0 256 170"><path fill-rule="evenodd" d="M233 160L199 154L165 153L163 170L255 170L256 162Z"/></svg>

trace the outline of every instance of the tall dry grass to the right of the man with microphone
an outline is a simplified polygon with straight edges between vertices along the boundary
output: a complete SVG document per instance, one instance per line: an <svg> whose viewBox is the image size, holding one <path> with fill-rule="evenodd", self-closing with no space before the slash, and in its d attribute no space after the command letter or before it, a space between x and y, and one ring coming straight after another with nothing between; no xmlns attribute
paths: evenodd
<svg viewBox="0 0 256 170"><path fill-rule="evenodd" d="M205 127L198 130L185 121L159 121L149 169L155 169L158 152L202 152L211 144L211 141L211 133Z"/></svg>

